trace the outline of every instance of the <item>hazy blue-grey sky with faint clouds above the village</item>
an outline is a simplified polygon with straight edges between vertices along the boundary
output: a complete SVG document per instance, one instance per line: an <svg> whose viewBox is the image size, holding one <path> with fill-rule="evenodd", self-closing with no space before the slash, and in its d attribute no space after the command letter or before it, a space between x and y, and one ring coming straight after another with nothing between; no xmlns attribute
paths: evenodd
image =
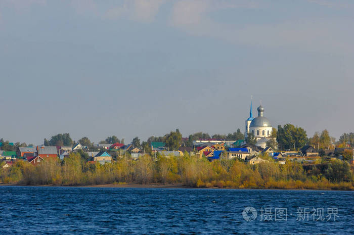
<svg viewBox="0 0 354 235"><path fill-rule="evenodd" d="M354 131L352 1L0 1L0 137Z"/></svg>

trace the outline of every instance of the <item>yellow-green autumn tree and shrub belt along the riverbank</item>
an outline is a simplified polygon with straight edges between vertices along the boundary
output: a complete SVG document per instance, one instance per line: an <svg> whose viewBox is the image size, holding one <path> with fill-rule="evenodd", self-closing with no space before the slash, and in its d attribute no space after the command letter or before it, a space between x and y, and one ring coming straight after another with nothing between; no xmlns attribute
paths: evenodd
<svg viewBox="0 0 354 235"><path fill-rule="evenodd" d="M146 155L133 161L129 155L101 165L87 162L79 153L60 161L50 159L34 166L16 161L12 167L0 167L0 181L27 185L90 185L107 183L180 183L193 187L254 189L335 189L353 190L353 170L347 162L334 160L302 166L287 162L257 165L236 159L209 162L185 153L183 157ZM4 163L0 163L2 166Z"/></svg>

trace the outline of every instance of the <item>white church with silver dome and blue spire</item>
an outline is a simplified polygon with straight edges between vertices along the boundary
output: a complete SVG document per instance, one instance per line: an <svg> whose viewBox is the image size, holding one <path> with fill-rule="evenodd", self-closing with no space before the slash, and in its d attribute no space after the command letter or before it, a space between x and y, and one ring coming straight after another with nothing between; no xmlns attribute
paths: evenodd
<svg viewBox="0 0 354 235"><path fill-rule="evenodd" d="M257 111L258 117L254 118L252 116L251 101L251 110L249 113L249 118L246 120L245 138L247 137L247 133L252 133L257 140L256 146L264 149L267 146L267 142L270 140L273 127L268 118L263 116L263 106L260 105L257 108Z"/></svg>

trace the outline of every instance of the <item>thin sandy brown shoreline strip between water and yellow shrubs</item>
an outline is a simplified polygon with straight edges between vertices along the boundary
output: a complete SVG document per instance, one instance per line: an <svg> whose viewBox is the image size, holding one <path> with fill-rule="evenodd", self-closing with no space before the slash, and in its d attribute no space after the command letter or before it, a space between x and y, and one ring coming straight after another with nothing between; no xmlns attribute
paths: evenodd
<svg viewBox="0 0 354 235"><path fill-rule="evenodd" d="M41 184L41 185L27 185L27 184L12 184L12 183L0 183L0 186L29 186L29 187L103 187L103 188L126 188L126 189L217 189L217 190L291 190L291 191L352 191L352 190L334 190L334 189L255 189L255 188L232 188L232 187L193 187L186 186L182 183L108 183L108 184L89 184L89 185L53 185L53 184Z"/></svg>

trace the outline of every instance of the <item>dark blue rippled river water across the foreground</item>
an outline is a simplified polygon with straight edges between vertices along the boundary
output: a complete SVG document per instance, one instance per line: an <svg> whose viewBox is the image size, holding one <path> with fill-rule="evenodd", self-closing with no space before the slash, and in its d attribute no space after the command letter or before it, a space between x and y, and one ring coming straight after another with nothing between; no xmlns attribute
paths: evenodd
<svg viewBox="0 0 354 235"><path fill-rule="evenodd" d="M353 200L339 191L0 186L0 234L354 234ZM254 221L242 216L247 206ZM313 221L299 207L337 208L338 217ZM275 221L275 208L287 216Z"/></svg>

